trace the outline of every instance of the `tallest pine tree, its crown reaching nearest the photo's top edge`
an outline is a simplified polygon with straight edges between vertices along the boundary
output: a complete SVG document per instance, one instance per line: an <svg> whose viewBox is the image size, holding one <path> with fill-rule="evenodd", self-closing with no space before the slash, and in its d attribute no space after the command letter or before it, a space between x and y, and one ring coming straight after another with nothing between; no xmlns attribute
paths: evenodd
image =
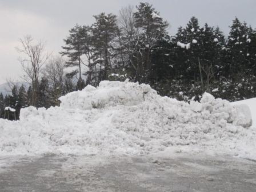
<svg viewBox="0 0 256 192"><path fill-rule="evenodd" d="M138 81L148 82L152 67L151 53L159 41L167 38L168 23L163 21L159 12L149 3L140 3L134 13L135 27L140 31L137 39L138 52L136 57L142 57L142 65L137 62ZM140 60L140 59L139 59ZM138 61L139 61L138 60Z"/></svg>

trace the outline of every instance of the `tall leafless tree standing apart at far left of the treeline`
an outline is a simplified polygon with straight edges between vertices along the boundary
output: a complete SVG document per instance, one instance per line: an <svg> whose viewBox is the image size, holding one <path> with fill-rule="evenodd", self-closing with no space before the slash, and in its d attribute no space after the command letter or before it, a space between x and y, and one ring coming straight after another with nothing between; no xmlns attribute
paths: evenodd
<svg viewBox="0 0 256 192"><path fill-rule="evenodd" d="M45 53L44 43L42 41L34 42L30 35L19 39L19 42L21 46L16 47L16 50L23 54L23 57L19 59L25 73L23 79L31 84L31 105L36 106L39 75L42 66L49 58L49 54Z"/></svg>

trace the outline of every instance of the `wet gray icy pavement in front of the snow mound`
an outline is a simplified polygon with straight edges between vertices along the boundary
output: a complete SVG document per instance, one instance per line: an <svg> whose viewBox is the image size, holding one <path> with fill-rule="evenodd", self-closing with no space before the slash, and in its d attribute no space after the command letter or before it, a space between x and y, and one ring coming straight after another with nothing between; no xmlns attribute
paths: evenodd
<svg viewBox="0 0 256 192"><path fill-rule="evenodd" d="M232 157L5 157L0 191L253 191L256 162Z"/></svg>

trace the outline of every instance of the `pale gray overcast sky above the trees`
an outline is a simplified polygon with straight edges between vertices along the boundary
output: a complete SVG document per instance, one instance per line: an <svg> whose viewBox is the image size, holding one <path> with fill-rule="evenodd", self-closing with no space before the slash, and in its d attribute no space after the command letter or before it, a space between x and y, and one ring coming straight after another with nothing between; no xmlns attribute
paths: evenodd
<svg viewBox="0 0 256 192"><path fill-rule="evenodd" d="M58 53L63 38L71 27L90 25L92 15L101 12L118 14L126 5L138 5L137 0L0 0L0 84L6 78L18 79L22 75L19 54L14 47L18 39L30 34L34 39L46 41L47 51ZM185 26L193 15L199 23L219 26L225 34L235 16L256 27L256 0L151 0L146 1L160 11L170 23L173 35L179 26Z"/></svg>

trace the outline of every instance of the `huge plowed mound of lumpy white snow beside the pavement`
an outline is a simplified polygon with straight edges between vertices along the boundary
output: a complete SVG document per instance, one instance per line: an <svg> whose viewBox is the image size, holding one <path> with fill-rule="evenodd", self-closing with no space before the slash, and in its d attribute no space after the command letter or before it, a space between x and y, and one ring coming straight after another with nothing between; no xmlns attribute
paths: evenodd
<svg viewBox="0 0 256 192"><path fill-rule="evenodd" d="M1 119L0 154L149 154L187 146L256 158L250 119L208 93L186 103L149 85L103 81L59 99L60 107L22 109L20 121Z"/></svg>

